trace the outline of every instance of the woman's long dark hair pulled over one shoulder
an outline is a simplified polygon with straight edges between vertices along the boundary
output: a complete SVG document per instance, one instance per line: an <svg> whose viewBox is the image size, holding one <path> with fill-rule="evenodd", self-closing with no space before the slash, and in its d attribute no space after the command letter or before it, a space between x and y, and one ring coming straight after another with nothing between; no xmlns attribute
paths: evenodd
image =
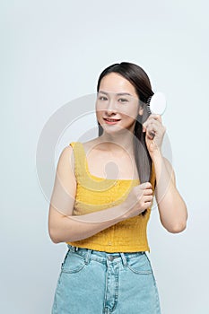
<svg viewBox="0 0 209 314"><path fill-rule="evenodd" d="M140 106L144 109L143 116L139 116L135 121L134 131L134 148L135 148L135 164L138 171L138 176L141 183L150 181L152 175L152 160L148 153L145 134L143 132L142 124L149 117L150 112L147 109L146 103L150 97L152 97L152 86L148 75L144 72L142 67L128 62L122 62L120 64L109 65L101 74L97 84L97 92L100 90L101 79L110 73L117 73L122 75L129 81L134 87L135 92L138 95ZM103 132L102 127L99 124L99 135Z"/></svg>

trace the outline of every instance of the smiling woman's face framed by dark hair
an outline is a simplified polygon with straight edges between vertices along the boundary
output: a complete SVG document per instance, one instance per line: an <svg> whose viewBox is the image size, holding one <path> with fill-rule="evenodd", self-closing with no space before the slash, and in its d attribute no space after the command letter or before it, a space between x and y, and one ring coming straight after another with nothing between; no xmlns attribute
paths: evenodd
<svg viewBox="0 0 209 314"><path fill-rule="evenodd" d="M96 102L97 119L107 133L129 130L134 133L135 118L143 114L135 87L122 75L111 73L100 81Z"/></svg>

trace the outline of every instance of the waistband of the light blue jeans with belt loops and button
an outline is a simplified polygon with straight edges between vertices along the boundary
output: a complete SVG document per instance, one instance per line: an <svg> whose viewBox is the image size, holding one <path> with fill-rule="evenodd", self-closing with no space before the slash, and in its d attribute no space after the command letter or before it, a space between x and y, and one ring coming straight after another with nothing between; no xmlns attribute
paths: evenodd
<svg viewBox="0 0 209 314"><path fill-rule="evenodd" d="M71 252L76 252L78 255L84 257L85 263L88 264L91 259L97 260L101 263L106 263L107 260L109 262L112 262L114 260L117 260L118 258L122 260L122 263L124 266L126 266L127 261L131 258L134 257L139 257L140 255L145 254L144 251L139 251L139 252L130 252L130 253L123 253L123 252L114 252L114 253L109 253L109 252L104 252L104 251L98 251L98 250L93 250L93 249L83 249L83 248L78 248L74 247L70 244L67 244L67 247L69 251Z"/></svg>

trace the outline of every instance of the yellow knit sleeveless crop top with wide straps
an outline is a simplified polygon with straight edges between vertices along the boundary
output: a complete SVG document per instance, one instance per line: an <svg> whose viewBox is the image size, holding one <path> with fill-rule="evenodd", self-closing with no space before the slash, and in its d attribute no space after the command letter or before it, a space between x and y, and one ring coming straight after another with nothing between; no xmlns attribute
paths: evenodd
<svg viewBox="0 0 209 314"><path fill-rule="evenodd" d="M89 214L119 205L131 188L140 184L138 179L102 179L91 175L83 144L71 143L74 149L74 169L77 189L74 203L74 215ZM152 168L152 188L154 188L154 170ZM150 251L146 229L151 208L146 214L128 218L123 222L100 231L97 234L74 242L66 242L79 248L113 252Z"/></svg>

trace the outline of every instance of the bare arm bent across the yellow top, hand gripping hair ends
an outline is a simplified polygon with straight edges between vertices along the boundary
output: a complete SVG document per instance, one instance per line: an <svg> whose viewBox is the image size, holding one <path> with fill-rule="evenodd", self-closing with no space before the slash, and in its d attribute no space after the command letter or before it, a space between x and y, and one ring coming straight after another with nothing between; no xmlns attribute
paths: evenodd
<svg viewBox="0 0 209 314"><path fill-rule="evenodd" d="M55 243L83 240L127 218L140 214L152 204L150 183L139 185L131 191L126 201L109 209L72 216L76 195L74 153L65 147L57 164L55 185L48 213L48 231Z"/></svg>

